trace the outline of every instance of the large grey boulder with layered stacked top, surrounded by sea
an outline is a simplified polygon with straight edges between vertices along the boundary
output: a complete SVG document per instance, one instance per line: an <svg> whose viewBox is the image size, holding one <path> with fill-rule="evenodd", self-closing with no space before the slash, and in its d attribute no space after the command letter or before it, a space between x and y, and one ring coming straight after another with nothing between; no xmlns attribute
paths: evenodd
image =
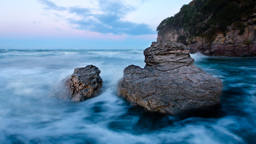
<svg viewBox="0 0 256 144"><path fill-rule="evenodd" d="M153 42L144 55L143 69L125 68L118 95L148 111L171 115L220 104L221 80L194 66L183 44Z"/></svg>

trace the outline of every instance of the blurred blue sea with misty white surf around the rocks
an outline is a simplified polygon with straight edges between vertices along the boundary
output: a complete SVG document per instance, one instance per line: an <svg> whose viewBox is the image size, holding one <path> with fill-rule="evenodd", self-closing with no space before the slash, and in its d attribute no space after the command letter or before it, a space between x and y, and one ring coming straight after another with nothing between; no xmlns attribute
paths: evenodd
<svg viewBox="0 0 256 144"><path fill-rule="evenodd" d="M116 95L123 69L144 67L143 51L0 50L0 143L256 143L256 58L192 58L223 81L222 107L180 119L145 113ZM49 97L88 64L101 70L101 95L81 103Z"/></svg>

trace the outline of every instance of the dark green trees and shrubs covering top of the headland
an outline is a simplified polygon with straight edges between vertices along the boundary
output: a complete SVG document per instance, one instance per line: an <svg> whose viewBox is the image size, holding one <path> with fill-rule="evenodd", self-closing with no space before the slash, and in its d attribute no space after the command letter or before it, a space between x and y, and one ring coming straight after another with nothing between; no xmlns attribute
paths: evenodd
<svg viewBox="0 0 256 144"><path fill-rule="evenodd" d="M183 28L189 35L179 37L180 42L185 38L206 37L214 40L217 33L225 33L227 27L233 24L244 33L242 19L253 14L256 0L193 0L183 5L174 17L168 17L157 27L159 35L173 28Z"/></svg>

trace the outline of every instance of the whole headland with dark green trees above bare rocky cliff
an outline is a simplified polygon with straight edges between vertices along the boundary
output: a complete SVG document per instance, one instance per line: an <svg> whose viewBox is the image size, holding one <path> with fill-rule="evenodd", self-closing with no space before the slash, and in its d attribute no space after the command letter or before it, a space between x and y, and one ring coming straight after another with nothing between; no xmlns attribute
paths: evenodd
<svg viewBox="0 0 256 144"><path fill-rule="evenodd" d="M157 31L158 42L180 42L191 53L256 56L256 1L192 0Z"/></svg>

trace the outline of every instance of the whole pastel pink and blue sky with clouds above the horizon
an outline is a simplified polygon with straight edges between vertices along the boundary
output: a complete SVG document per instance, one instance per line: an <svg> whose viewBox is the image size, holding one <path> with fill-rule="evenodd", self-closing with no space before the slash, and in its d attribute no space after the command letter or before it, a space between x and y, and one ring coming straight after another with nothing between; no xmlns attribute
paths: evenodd
<svg viewBox="0 0 256 144"><path fill-rule="evenodd" d="M1 0L0 49L145 49L192 0Z"/></svg>

